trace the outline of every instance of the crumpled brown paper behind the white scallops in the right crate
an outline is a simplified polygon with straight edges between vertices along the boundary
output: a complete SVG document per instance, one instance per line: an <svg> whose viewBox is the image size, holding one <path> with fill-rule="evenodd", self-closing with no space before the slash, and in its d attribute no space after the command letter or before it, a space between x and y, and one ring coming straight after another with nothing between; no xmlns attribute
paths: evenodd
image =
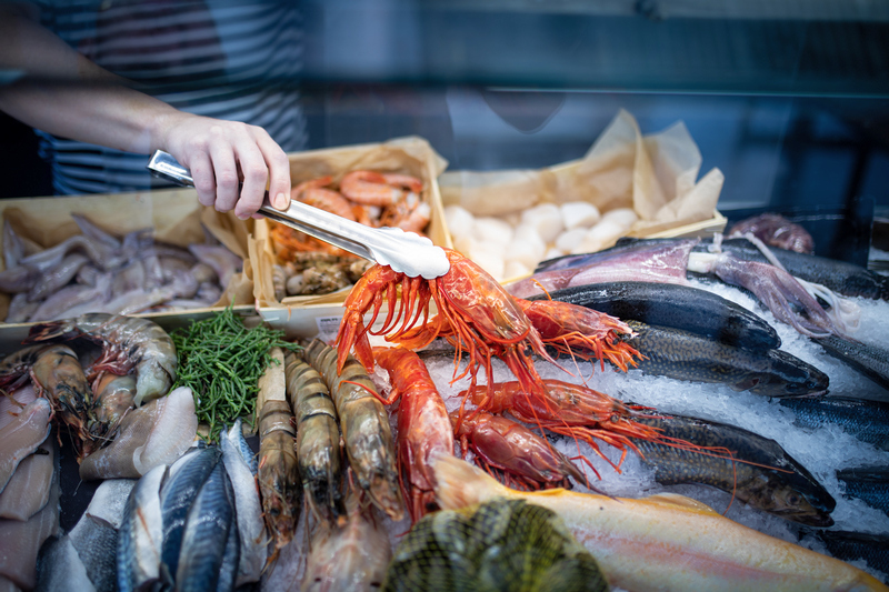
<svg viewBox="0 0 889 592"><path fill-rule="evenodd" d="M601 212L632 208L639 220L628 235L649 237L718 215L725 177L713 168L697 180L700 167L685 123L643 136L621 109L580 160L540 170L446 172L439 185L444 205L476 215L505 215L541 202L587 201Z"/></svg>

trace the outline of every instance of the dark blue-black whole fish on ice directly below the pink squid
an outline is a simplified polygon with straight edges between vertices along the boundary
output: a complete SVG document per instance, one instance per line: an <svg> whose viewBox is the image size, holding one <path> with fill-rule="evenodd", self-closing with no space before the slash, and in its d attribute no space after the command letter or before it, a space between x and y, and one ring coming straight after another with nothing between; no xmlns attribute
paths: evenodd
<svg viewBox="0 0 889 592"><path fill-rule="evenodd" d="M778 332L743 307L700 288L675 283L607 282L549 294L622 320L681 329L748 350L778 349ZM535 297L533 300L546 298Z"/></svg>

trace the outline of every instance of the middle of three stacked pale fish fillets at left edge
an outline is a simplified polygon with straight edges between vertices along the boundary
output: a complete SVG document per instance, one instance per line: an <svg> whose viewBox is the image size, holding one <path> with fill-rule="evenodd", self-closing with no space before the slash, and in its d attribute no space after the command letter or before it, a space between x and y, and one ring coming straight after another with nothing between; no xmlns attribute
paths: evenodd
<svg viewBox="0 0 889 592"><path fill-rule="evenodd" d="M0 493L0 518L28 520L49 501L56 451L52 439L47 439L34 452L16 468L6 489Z"/></svg>

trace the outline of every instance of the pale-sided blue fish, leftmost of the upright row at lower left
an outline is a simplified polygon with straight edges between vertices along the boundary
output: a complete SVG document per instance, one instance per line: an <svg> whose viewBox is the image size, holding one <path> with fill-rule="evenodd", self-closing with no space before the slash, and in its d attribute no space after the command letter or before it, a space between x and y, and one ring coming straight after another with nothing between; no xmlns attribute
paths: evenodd
<svg viewBox="0 0 889 592"><path fill-rule="evenodd" d="M160 578L163 518L160 491L169 468L159 465L130 492L118 532L117 573L120 592L150 589Z"/></svg>

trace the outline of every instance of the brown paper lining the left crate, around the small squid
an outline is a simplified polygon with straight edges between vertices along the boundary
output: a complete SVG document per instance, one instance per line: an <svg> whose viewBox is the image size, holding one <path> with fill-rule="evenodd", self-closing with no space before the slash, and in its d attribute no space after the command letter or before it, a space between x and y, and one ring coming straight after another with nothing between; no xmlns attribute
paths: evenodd
<svg viewBox="0 0 889 592"><path fill-rule="evenodd" d="M193 189L0 200L0 217L16 232L44 248L80 234L72 213L83 214L116 237L153 228L154 240L178 247L203 243L209 232L244 260L244 272L232 277L214 307L229 305L232 299L236 305L253 302L252 279L247 275L247 242L254 221L243 222L231 212L202 207ZM0 269L3 267L0 241ZM0 319L7 315L9 300L8 294L0 293Z"/></svg>

